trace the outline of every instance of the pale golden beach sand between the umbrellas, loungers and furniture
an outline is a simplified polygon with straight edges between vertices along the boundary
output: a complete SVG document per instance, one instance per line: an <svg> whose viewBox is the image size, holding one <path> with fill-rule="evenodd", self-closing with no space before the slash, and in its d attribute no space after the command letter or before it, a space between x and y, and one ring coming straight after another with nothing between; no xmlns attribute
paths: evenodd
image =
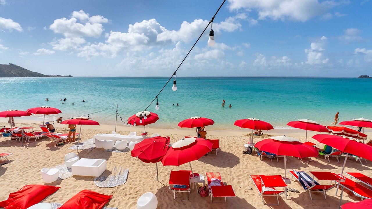
<svg viewBox="0 0 372 209"><path fill-rule="evenodd" d="M17 123L31 123L34 121L17 119ZM6 125L4 119L1 120L0 126ZM58 132L67 132L66 125L55 124ZM81 142L92 138L98 133L110 133L115 129L115 126L83 126ZM126 127L118 126L117 132L120 134L129 134L136 131L140 134L143 127ZM263 158L263 161L257 156L244 155L243 144L247 143L249 130L211 130L208 131L207 138L219 139L221 150L217 155L208 155L202 157L199 161L193 161L192 166L195 173L203 174L205 172L220 172L222 179L229 185L232 185L236 197L227 198L225 203L222 198L214 198L214 203L211 203L210 197L202 198L198 196L195 189L191 191L189 201L173 200L173 193L168 187L169 174L171 170L189 170L188 164L183 164L180 167L166 166L163 167L158 163L159 167L159 182L156 180L155 164L147 164L131 157L130 151L125 153L106 152L103 149L94 148L90 150L79 150L80 158L99 158L107 160L107 170L112 170L114 166L123 166L129 168L128 180L125 184L113 188L100 188L94 182L94 177L72 176L68 179L55 181L48 185L60 186L61 189L54 194L48 196L43 202L64 203L74 194L83 189L93 190L99 193L113 195L112 200L108 203L110 207L118 207L119 209L135 209L138 198L145 192L153 192L158 199L158 209L163 208L337 208L340 200L340 192L335 196L336 189L332 189L327 193L327 200L323 194L312 194L313 200L310 200L308 193L305 193L301 186L295 181L289 184L289 187L299 190L299 193L288 192L288 199L285 200L284 195L279 198L280 206L267 206L262 203L262 199L258 196L258 192L251 182L249 175L251 174L284 174L283 158L270 161L269 158ZM161 136L170 136L171 142L182 139L183 136L194 135L194 129L154 129L148 128L149 134L158 133ZM371 131L365 131L366 134L371 134ZM256 137L254 142L263 138L268 138L272 135L287 135L298 138L300 141L305 141L305 133L302 130L286 129L272 130L264 132L264 136ZM308 132L308 139L317 132ZM311 142L323 148L314 139ZM7 198L9 193L19 190L27 184L45 184L41 178L40 170L43 167L54 167L55 165L64 163L64 155L70 152L76 152L76 149L68 149L72 144L65 144L62 147L55 147L54 143L49 143L48 139L39 139L36 142L25 143L21 147L21 143L10 141L9 138L0 138L0 151L13 153L9 157L6 164L0 167L0 199ZM343 160L344 158L342 158ZM342 163L337 163L335 159L331 159L328 163L323 157L312 158L312 162L302 163L294 157L288 157L287 169L296 169L303 171L331 171L340 173ZM4 163L4 162L2 162ZM362 172L371 176L371 162L365 163L363 166L354 160L349 159L346 164L345 171ZM287 173L287 177L290 176ZM372 176L371 176L372 177ZM186 194L177 194L178 199L185 198ZM275 197L265 197L268 203L275 203ZM342 203L358 202L359 197L350 196L350 193L344 194Z"/></svg>

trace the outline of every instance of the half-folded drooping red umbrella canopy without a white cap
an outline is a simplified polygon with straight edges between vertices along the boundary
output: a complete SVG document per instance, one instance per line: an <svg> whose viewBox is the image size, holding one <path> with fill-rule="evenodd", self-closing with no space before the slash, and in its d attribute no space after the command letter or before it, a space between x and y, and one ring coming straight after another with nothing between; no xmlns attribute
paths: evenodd
<svg viewBox="0 0 372 209"><path fill-rule="evenodd" d="M160 162L169 149L169 141L169 136L156 136L144 139L140 143L134 145L132 157L138 157L138 159L145 163Z"/></svg>

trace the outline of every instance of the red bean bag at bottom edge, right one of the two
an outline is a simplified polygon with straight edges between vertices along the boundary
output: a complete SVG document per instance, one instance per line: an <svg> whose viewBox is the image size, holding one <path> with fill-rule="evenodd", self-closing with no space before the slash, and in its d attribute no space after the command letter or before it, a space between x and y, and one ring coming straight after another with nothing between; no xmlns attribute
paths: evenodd
<svg viewBox="0 0 372 209"><path fill-rule="evenodd" d="M112 195L100 194L84 189L67 200L58 209L100 209L109 202Z"/></svg>

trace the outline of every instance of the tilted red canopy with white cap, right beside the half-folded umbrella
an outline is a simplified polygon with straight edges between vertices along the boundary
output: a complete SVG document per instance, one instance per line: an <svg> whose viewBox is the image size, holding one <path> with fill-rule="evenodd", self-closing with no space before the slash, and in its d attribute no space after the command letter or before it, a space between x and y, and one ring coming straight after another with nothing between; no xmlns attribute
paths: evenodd
<svg viewBox="0 0 372 209"><path fill-rule="evenodd" d="M198 138L194 143L181 147L169 148L167 154L161 160L163 165L176 165L180 166L194 160L199 160L208 152L212 151L213 143L203 138Z"/></svg>

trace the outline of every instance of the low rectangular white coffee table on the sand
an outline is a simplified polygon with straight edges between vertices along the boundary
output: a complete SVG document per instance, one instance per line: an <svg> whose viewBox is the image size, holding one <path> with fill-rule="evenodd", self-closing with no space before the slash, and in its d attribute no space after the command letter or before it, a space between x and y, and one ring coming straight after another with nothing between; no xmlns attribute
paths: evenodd
<svg viewBox="0 0 372 209"><path fill-rule="evenodd" d="M77 176L99 176L106 170L106 160L81 158L71 166L72 174Z"/></svg>

